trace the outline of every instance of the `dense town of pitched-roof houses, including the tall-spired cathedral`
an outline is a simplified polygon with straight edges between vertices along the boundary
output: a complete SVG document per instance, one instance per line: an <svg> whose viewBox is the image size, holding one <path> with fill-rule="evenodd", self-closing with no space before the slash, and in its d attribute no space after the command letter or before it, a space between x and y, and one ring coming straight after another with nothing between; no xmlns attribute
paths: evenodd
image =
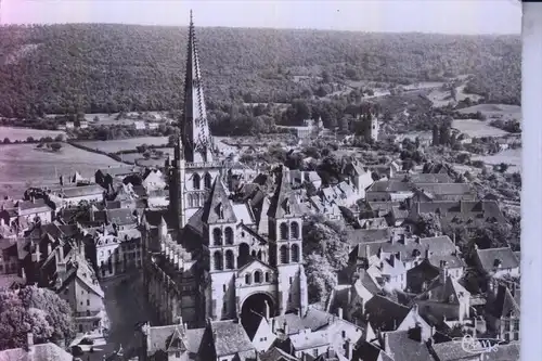
<svg viewBox="0 0 542 361"><path fill-rule="evenodd" d="M51 289L76 325L75 339L40 344L30 331L0 360L519 359L519 252L476 246L467 257L454 235L420 230L436 216L505 224L498 199L446 167L405 170L399 159L352 160L328 183L315 170L219 156L192 23L188 51L193 101L163 165L63 175L0 201L0 287ZM366 139L377 141L378 119L367 121ZM294 131L300 140L332 132L321 120ZM344 230L347 266L333 280L306 261L308 228L322 224ZM318 256L328 245L319 240ZM122 299L104 286L117 280ZM310 301L327 283L326 299ZM477 353L465 336L499 341Z"/></svg>

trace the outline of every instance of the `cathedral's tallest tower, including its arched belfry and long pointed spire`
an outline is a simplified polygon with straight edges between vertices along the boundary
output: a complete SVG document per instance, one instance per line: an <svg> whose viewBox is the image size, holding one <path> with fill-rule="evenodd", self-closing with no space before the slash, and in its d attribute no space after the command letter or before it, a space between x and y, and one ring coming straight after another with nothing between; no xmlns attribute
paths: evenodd
<svg viewBox="0 0 542 361"><path fill-rule="evenodd" d="M184 75L184 104L179 127L180 142L176 145L175 159L169 170L170 210L179 219L178 231L203 208L212 183L217 177L221 177L223 167L212 153L214 143L205 108L192 12ZM181 166L183 169L180 169Z"/></svg>

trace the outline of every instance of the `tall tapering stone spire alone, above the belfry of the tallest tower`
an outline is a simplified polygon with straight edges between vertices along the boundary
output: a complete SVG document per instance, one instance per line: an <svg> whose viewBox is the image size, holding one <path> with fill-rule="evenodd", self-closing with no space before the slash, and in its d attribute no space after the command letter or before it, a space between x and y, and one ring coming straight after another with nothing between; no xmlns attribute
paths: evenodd
<svg viewBox="0 0 542 361"><path fill-rule="evenodd" d="M181 134L186 162L212 162L212 140L207 121L199 56L192 11L190 12L186 70L184 75L184 107Z"/></svg>

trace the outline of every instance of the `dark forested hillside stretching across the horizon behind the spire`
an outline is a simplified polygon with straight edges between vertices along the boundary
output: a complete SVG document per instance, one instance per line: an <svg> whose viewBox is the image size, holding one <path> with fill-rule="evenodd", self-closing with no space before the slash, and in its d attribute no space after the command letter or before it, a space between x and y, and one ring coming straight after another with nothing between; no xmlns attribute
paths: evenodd
<svg viewBox="0 0 542 361"><path fill-rule="evenodd" d="M218 27L196 34L211 103L289 102L328 78L409 83L474 74L469 91L519 104L519 37ZM186 39L180 27L0 27L0 115L177 108ZM295 81L300 75L313 77Z"/></svg>

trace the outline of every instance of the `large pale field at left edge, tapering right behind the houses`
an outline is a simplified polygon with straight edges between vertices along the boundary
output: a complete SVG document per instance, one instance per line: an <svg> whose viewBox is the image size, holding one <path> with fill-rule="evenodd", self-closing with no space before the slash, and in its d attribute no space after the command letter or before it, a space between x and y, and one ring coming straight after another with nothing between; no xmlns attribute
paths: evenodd
<svg viewBox="0 0 542 361"><path fill-rule="evenodd" d="M35 144L0 146L0 196L20 197L28 186L55 184L56 177L70 176L76 170L82 177L91 177L99 168L122 166L105 155L63 145L57 153L38 150Z"/></svg>

